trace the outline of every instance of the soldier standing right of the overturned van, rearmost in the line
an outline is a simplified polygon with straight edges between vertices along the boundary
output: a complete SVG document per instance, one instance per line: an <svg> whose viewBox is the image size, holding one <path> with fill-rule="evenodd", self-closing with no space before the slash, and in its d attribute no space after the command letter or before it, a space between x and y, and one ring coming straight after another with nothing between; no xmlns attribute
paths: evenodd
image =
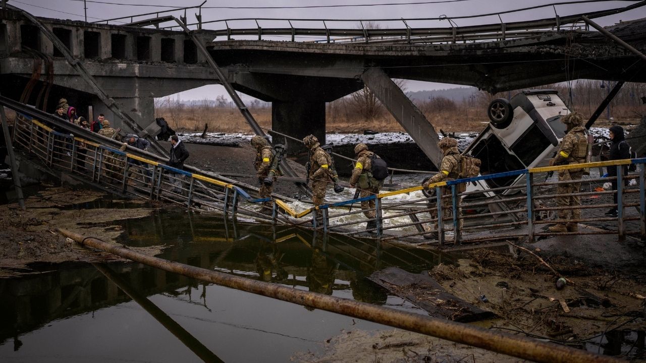
<svg viewBox="0 0 646 363"><path fill-rule="evenodd" d="M567 125L567 134L561 141L561 147L550 165L568 165L585 163L585 156L588 148L588 138L585 127L583 127L583 115L579 112L572 112L561 118ZM583 169L559 170L559 182L564 180L581 180ZM556 205L559 207L556 225L549 227L552 232L576 232L578 222L559 222L564 220L578 220L581 218L581 209L565 209L565 207L578 207L581 205L581 198L573 196L581 190L581 182L556 185L556 193L561 194L556 198ZM569 194L569 195L568 195Z"/></svg>

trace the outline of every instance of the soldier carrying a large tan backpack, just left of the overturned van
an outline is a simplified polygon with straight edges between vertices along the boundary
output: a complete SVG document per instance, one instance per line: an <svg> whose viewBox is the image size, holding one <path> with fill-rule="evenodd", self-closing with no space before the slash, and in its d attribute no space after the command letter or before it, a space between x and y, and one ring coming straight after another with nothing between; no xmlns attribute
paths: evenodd
<svg viewBox="0 0 646 363"><path fill-rule="evenodd" d="M437 143L437 146L442 149L444 152L444 157L440 163L440 171L433 175L432 178L426 181L422 187L427 188L429 184L444 182L448 180L454 180L458 178L460 173L460 152L457 150L457 140L454 138L443 138ZM464 192L466 189L465 184L459 184L456 186L457 192ZM441 187L442 195L451 195L450 187ZM435 205L430 205L434 207ZM458 214L460 213L460 198L457 198ZM442 214L443 218L452 218L453 217L453 199L450 197L442 198ZM437 218L437 210L430 211L431 218ZM460 227L462 227L463 220L459 220ZM437 222L433 223L433 232L424 234L424 238L427 240L437 240Z"/></svg>

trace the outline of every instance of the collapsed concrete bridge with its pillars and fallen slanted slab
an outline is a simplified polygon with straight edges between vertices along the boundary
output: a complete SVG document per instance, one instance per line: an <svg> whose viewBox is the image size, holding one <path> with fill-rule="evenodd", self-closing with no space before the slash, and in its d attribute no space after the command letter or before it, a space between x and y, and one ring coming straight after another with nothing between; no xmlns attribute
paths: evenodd
<svg viewBox="0 0 646 363"><path fill-rule="evenodd" d="M646 2L641 1L587 15L600 17L643 5ZM272 103L274 130L297 137L313 133L324 141L325 103L366 85L434 163L439 158L437 133L391 78L471 85L489 92L579 78L646 81L643 61L578 23L581 14L477 28L418 32L406 28L399 38L397 30L388 30L390 38L385 39L376 39L384 30L364 29L361 43L213 41L222 34L231 39L231 34L249 31L227 28L224 33L200 26L191 32L200 45L184 32L140 27L169 20L164 18L125 26L39 18L74 61L82 62L94 76L96 87L112 99L106 102L79 76L74 61L65 59L23 13L7 8L1 10L0 19L0 92L48 111L65 97L72 105L92 105L94 114L104 113L116 127L129 129L112 114L108 103L114 102L143 129L152 122L154 98L223 83L198 51L204 46L235 90ZM565 24L572 26L566 30ZM625 21L609 30L638 52L646 50L646 19ZM258 37L287 31L298 33L294 28L258 29ZM330 34L348 32L326 29L328 42ZM439 32L446 34L429 35Z"/></svg>

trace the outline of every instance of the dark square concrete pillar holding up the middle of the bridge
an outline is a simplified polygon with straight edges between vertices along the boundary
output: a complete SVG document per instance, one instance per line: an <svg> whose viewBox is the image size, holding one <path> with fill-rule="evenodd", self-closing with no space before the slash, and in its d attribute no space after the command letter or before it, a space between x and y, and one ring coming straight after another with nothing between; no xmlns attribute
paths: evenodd
<svg viewBox="0 0 646 363"><path fill-rule="evenodd" d="M313 134L321 145L325 143L325 102L296 101L271 103L271 129L302 140ZM280 136L273 137L274 143L284 143ZM287 140L287 153L290 155L306 151L302 143Z"/></svg>

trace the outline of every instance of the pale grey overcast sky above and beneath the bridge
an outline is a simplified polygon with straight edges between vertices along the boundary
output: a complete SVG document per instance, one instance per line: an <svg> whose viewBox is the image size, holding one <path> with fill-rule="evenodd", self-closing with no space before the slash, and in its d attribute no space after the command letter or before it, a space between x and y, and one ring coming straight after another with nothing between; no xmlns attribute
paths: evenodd
<svg viewBox="0 0 646 363"><path fill-rule="evenodd" d="M100 21L103 19L112 19L115 17L134 16L136 14L145 14L172 10L177 6L200 5L203 0L87 0L87 21ZM514 10L526 8L541 4L572 2L572 0L207 0L202 8L202 21L218 21L205 24L204 28L222 29L226 28L224 19L239 18L288 18L288 19L328 19L326 26L328 28L360 28L359 22L340 22L332 21L333 19L413 19L413 18L437 18L441 16L459 17L472 16L479 14L489 14L502 12L505 10ZM83 0L9 0L9 3L23 8L41 17L54 17L58 19L84 20L85 9ZM113 3L113 4L108 4ZM556 10L559 16L571 14L580 14L605 10L609 8L619 8L627 6L636 1L597 1L594 3L566 4L554 7L548 6L523 12L514 12L512 14L502 14L501 19L504 22L543 19L554 17ZM117 5L121 4L121 5ZM128 5L125 5L128 4ZM397 4L397 5L380 5L380 4ZM136 6L135 6L136 5ZM335 6L345 5L345 6ZM357 6L347 6L357 5ZM279 7L283 8L258 8L258 7ZM328 6L328 7L311 7L304 6ZM332 7L333 6L333 7ZM211 7L211 8L209 8ZM243 8L251 7L251 8ZM194 13L196 9L187 10L189 23L196 21ZM171 13L176 16L183 14L181 12ZM145 19L151 16L143 16L136 19ZM620 20L632 20L646 17L646 6L636 10L630 10L614 16L595 19L603 26L618 23ZM485 16L472 19L453 19L457 26L492 24L499 23L498 16ZM124 21L129 22L129 19ZM117 21L114 22L118 24ZM230 20L227 21L231 28L255 28L256 23L253 20ZM322 21L291 21L295 27L323 27ZM381 28L401 28L401 21L381 21ZM406 21L411 27L448 27L448 21L437 20L408 20ZM259 20L258 24L264 28L288 28L287 21ZM240 39L240 37L238 37ZM280 38L277 38L280 39ZM312 38L309 38L311 40ZM218 39L215 39L218 40ZM301 39L305 40L305 39ZM420 81L406 81L407 91L417 91L426 89L452 88L459 87L455 85L444 85L441 83L428 83ZM205 94L213 95L213 99L218 94L225 94L224 88L219 85L200 87L195 90L182 92L182 99L203 99ZM211 97L209 97L211 98Z"/></svg>

